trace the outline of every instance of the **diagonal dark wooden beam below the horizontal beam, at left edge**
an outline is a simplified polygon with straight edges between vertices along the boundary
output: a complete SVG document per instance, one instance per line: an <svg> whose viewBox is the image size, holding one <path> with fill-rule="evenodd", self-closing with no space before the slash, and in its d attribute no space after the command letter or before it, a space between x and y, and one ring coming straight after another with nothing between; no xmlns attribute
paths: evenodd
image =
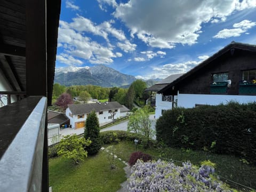
<svg viewBox="0 0 256 192"><path fill-rule="evenodd" d="M1 68L4 71L5 75L8 75L10 77L11 82L9 83L12 85L13 90L20 92L21 91L20 82L18 80L17 74L15 73L11 60L5 55L0 54L0 62L2 64Z"/></svg>

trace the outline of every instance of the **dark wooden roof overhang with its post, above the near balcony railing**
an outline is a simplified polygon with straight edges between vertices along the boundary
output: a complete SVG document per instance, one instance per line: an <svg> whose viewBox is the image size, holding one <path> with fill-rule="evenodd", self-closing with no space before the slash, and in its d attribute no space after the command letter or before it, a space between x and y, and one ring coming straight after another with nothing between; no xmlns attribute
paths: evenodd
<svg viewBox="0 0 256 192"><path fill-rule="evenodd" d="M1 0L0 72L9 93L43 95L51 105L60 6L61 0Z"/></svg>

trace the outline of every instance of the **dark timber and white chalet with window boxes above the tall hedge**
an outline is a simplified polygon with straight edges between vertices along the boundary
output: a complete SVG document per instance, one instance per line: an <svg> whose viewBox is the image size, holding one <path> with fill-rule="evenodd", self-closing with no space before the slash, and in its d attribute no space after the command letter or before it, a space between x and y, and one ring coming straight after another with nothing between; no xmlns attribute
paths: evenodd
<svg viewBox="0 0 256 192"><path fill-rule="evenodd" d="M157 93L174 95L185 108L255 102L255 63L256 45L231 42Z"/></svg>

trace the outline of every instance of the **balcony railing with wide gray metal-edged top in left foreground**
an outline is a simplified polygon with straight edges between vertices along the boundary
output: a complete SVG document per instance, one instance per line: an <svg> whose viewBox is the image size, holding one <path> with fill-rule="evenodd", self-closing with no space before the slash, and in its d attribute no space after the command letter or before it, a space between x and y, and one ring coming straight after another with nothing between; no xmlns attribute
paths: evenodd
<svg viewBox="0 0 256 192"><path fill-rule="evenodd" d="M46 97L0 108L0 191L48 191Z"/></svg>

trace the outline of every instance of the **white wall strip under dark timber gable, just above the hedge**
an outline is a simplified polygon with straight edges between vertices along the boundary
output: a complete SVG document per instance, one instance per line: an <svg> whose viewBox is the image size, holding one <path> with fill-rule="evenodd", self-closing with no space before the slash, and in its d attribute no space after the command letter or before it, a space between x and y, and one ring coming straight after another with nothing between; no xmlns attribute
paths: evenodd
<svg viewBox="0 0 256 192"><path fill-rule="evenodd" d="M256 101L254 95L217 95L217 94L179 94L178 107L192 108L196 104L219 105L227 104L229 101L247 103Z"/></svg>

